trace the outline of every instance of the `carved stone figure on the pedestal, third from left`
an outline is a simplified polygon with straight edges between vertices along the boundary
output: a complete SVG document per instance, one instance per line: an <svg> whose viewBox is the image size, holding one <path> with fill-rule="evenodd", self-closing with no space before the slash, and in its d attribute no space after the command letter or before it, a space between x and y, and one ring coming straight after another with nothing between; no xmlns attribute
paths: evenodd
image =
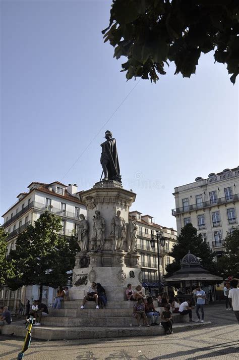
<svg viewBox="0 0 239 360"><path fill-rule="evenodd" d="M117 211L117 215L113 217L111 225L111 235L113 237L112 250L123 250L124 240L126 237L126 223L120 216L120 210Z"/></svg>

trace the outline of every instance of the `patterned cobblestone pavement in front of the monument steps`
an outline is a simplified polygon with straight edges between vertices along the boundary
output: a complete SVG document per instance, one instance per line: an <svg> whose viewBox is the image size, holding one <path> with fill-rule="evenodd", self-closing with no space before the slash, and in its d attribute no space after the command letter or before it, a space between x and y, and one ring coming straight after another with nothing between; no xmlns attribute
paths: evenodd
<svg viewBox="0 0 239 360"><path fill-rule="evenodd" d="M32 340L24 359L239 360L239 326L233 312L226 311L223 304L209 305L205 307L205 320L210 320L212 325L168 336L105 340ZM0 336L0 358L17 359L22 344L20 338Z"/></svg>

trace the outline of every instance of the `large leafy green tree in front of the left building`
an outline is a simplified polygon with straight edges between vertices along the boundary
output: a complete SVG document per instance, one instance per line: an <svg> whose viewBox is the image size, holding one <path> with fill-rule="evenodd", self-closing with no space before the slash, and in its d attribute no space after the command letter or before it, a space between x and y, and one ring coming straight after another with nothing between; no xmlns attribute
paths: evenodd
<svg viewBox="0 0 239 360"><path fill-rule="evenodd" d="M8 280L8 286L16 290L23 285L40 285L56 288L66 284L68 271L72 270L77 248L76 240L59 235L61 219L45 211L29 225L16 241L16 249L10 251L9 259L14 261L16 276Z"/></svg>

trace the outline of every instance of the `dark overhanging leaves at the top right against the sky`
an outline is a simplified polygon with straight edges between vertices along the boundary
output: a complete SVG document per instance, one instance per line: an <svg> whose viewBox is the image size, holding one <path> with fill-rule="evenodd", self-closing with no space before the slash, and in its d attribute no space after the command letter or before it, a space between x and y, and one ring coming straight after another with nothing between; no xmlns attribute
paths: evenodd
<svg viewBox="0 0 239 360"><path fill-rule="evenodd" d="M154 82L166 74L168 60L175 74L195 74L201 53L214 52L227 65L235 83L239 63L238 0L113 0L109 27L102 31L115 48L126 78Z"/></svg>

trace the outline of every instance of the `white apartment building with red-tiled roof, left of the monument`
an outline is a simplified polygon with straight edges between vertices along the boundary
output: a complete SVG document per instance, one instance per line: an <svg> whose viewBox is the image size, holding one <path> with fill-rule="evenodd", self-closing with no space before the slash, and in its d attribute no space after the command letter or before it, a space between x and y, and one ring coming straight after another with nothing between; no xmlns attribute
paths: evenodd
<svg viewBox="0 0 239 360"><path fill-rule="evenodd" d="M86 216L85 206L79 198L77 185L64 185L55 181L50 184L32 182L28 186L28 192L20 193L17 202L3 215L3 227L8 233L7 253L15 248L18 235L24 229L39 218L48 209L62 219L61 234L71 236L75 233L79 224L79 215ZM43 302L51 303L55 296L53 288L43 288ZM23 286L17 291L11 291L7 287L0 290L0 303L14 308L21 299L37 299L39 297L39 286Z"/></svg>

